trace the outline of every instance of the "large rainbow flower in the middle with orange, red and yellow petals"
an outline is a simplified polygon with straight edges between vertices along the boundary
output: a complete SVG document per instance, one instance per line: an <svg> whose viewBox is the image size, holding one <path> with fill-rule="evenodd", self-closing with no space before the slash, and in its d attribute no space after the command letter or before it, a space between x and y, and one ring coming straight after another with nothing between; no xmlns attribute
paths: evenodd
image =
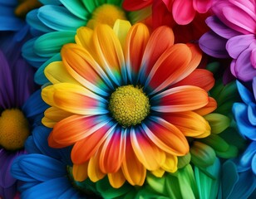
<svg viewBox="0 0 256 199"><path fill-rule="evenodd" d="M62 47L62 61L45 69L49 145L74 145L77 180L107 175L113 187L126 180L141 186L146 171L175 172L177 157L190 149L186 136L210 133L197 111L216 108L207 93L212 73L196 69L201 57L197 46L174 44L169 27L150 33L122 20L81 27L76 44Z"/></svg>

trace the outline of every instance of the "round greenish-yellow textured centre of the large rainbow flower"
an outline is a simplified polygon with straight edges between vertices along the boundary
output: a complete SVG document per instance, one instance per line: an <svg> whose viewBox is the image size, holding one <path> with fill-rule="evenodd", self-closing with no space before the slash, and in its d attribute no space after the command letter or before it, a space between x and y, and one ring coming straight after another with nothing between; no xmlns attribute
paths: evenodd
<svg viewBox="0 0 256 199"><path fill-rule="evenodd" d="M112 93L109 109L119 124L129 127L140 124L150 113L150 100L141 88L124 85Z"/></svg>

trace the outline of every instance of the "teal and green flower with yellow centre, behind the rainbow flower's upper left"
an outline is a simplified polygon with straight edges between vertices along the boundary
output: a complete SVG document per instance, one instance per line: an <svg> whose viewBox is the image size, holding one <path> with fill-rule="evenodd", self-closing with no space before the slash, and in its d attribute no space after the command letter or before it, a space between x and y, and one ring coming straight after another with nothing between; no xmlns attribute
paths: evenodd
<svg viewBox="0 0 256 199"><path fill-rule="evenodd" d="M116 19L129 20L133 24L149 16L148 9L141 12L126 12L121 7L122 0L41 2L42 7L27 14L27 23L34 37L27 41L22 49L22 55L32 66L41 66L35 77L40 85L47 81L43 69L50 62L61 60L61 48L66 43L75 42L77 28L94 28L100 23L112 27Z"/></svg>

